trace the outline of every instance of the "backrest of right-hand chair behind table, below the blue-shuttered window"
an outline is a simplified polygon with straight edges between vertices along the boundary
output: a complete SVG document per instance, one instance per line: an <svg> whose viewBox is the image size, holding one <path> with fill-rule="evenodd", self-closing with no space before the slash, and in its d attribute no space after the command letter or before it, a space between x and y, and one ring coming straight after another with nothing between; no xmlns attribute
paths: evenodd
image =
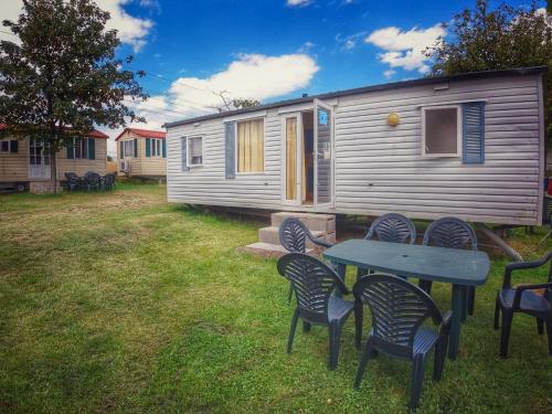
<svg viewBox="0 0 552 414"><path fill-rule="evenodd" d="M424 234L424 245L477 251L477 236L474 229L457 217L442 217L434 221Z"/></svg>

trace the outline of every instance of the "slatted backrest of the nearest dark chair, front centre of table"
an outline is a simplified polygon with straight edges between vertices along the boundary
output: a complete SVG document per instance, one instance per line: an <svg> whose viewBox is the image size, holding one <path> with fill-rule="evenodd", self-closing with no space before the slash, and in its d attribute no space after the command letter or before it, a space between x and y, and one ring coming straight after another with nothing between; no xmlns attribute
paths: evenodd
<svg viewBox="0 0 552 414"><path fill-rule="evenodd" d="M400 357L412 357L414 338L427 318L435 323L443 321L425 291L396 276L364 276L354 285L353 294L370 307L376 343Z"/></svg>

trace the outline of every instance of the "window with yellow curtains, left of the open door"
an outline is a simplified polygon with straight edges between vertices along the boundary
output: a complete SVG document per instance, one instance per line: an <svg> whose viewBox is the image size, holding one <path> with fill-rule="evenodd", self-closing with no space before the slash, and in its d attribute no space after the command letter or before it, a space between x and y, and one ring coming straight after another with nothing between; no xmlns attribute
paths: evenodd
<svg viewBox="0 0 552 414"><path fill-rule="evenodd" d="M237 172L264 172L265 121L261 119L237 123Z"/></svg>

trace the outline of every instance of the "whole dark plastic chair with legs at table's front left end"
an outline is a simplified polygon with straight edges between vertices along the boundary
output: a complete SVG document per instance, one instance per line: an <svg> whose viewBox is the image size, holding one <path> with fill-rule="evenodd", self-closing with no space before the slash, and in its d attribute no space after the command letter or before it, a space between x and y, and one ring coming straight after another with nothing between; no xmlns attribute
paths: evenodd
<svg viewBox="0 0 552 414"><path fill-rule="evenodd" d="M353 310L353 304L333 293L349 293L339 275L323 262L304 253L289 253L278 261L278 272L287 278L297 297L297 308L291 318L287 352L291 352L297 321L302 319L304 331L309 331L311 323L329 328L330 358L329 368L338 365L341 329Z"/></svg>

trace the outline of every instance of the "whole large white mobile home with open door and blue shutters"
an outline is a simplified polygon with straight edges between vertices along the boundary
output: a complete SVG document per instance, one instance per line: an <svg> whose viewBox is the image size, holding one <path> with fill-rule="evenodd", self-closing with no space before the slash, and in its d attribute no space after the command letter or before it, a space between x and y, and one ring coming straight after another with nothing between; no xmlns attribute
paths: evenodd
<svg viewBox="0 0 552 414"><path fill-rule="evenodd" d="M544 71L427 77L167 124L168 199L540 224Z"/></svg>

